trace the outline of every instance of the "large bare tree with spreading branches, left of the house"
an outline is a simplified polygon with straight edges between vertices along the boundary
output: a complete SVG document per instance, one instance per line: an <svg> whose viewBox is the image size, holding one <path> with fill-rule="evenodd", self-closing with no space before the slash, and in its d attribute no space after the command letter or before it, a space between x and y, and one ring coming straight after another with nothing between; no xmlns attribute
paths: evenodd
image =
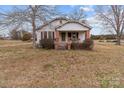
<svg viewBox="0 0 124 93"><path fill-rule="evenodd" d="M33 33L33 47L36 47L36 28L47 20L56 15L55 6L44 5L29 5L14 7L14 9L7 13L0 13L0 26L1 28L15 28L16 26L22 27L26 23L31 24Z"/></svg>

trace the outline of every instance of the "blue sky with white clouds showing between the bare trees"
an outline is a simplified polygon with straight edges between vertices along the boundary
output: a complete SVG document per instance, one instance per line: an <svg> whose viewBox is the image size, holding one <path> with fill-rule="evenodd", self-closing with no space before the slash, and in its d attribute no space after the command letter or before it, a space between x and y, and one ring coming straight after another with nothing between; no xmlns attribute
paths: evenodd
<svg viewBox="0 0 124 93"><path fill-rule="evenodd" d="M8 12L8 11L11 11L11 9L13 8L14 6L10 6L10 5L3 5L3 6L0 6L0 11L4 11L4 12ZM23 7L23 6L21 6ZM95 17L95 8L96 6L95 5L57 5L57 10L59 12L62 12L62 13L69 13L70 11L72 11L73 9L83 9L84 10L84 13L86 14L86 19L88 20L89 24L92 26L92 30L91 30L91 34L95 34L95 35L98 35L98 34L104 34L104 32L101 30L100 26L98 25L98 22L96 22L96 19L94 18ZM0 31L0 35L3 35L3 34L7 34L8 31Z"/></svg>

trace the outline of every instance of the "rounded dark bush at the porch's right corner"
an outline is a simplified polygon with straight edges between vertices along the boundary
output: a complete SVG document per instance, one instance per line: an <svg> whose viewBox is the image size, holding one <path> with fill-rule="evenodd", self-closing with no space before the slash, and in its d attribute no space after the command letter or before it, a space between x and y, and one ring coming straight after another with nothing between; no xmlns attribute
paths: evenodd
<svg viewBox="0 0 124 93"><path fill-rule="evenodd" d="M92 50L94 46L94 42L92 39L86 39L84 40L84 42L82 43L82 48L83 49L88 49L88 50Z"/></svg>

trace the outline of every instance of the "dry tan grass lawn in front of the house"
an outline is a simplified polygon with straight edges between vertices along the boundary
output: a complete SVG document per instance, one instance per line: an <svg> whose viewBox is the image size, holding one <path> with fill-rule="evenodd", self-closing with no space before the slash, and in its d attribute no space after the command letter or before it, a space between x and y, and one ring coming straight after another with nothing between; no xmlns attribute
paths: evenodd
<svg viewBox="0 0 124 93"><path fill-rule="evenodd" d="M43 50L6 40L0 46L0 87L124 87L124 46Z"/></svg>

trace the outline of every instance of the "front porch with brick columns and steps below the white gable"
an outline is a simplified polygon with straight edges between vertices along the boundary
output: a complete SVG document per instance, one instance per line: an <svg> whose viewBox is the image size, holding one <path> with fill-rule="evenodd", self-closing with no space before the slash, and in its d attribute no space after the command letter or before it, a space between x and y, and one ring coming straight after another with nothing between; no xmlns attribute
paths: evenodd
<svg viewBox="0 0 124 93"><path fill-rule="evenodd" d="M56 31L55 49L71 49L71 43L82 43L89 38L89 31Z"/></svg>

